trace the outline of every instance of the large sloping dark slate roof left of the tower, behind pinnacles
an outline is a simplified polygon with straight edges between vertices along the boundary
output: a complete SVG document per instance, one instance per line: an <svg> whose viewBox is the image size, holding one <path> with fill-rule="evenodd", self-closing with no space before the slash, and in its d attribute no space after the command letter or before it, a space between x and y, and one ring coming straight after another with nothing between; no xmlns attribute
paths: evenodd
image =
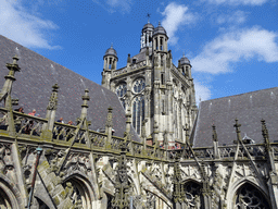
<svg viewBox="0 0 278 209"><path fill-rule="evenodd" d="M7 63L12 63L12 57L17 54L21 72L15 73L12 97L20 99L20 106L28 113L35 108L41 118L46 116L52 86L58 83L59 107L56 120L63 116L67 123L80 116L81 96L89 89L88 120L90 130L97 131L105 126L108 108L113 108L113 128L116 136L123 137L126 128L124 109L117 96L94 82L3 37L0 35L0 88L9 70ZM18 108L14 107L14 109ZM135 139L140 140L135 134Z"/></svg>

